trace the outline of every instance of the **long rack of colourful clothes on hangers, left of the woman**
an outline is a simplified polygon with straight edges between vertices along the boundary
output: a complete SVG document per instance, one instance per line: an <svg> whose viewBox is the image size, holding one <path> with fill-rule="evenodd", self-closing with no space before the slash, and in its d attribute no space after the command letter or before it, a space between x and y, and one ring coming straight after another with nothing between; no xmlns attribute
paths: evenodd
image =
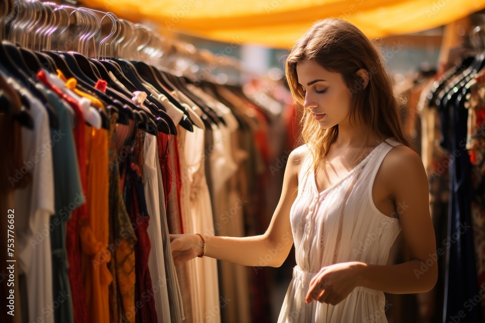
<svg viewBox="0 0 485 323"><path fill-rule="evenodd" d="M268 322L264 270L175 267L169 233L264 232L285 148L275 109L111 13L23 0L2 13L0 207L15 210L18 261L6 322Z"/></svg>

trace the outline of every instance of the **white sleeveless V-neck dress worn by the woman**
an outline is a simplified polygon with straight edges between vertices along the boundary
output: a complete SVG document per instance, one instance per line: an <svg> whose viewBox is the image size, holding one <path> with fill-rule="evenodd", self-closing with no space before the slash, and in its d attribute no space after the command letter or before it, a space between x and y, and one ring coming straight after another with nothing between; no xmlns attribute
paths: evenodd
<svg viewBox="0 0 485 323"><path fill-rule="evenodd" d="M311 278L324 266L346 261L386 264L401 225L398 218L376 208L372 184L386 154L400 144L392 138L383 141L356 168L320 193L312 155L306 155L290 213L297 265L278 323L387 322L383 292L359 286L336 306L316 301L307 304L305 296Z"/></svg>

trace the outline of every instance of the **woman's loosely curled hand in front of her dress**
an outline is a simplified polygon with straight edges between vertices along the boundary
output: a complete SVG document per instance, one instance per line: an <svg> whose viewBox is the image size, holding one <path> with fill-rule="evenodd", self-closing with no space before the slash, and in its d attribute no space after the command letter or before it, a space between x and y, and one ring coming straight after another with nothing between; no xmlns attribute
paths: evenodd
<svg viewBox="0 0 485 323"><path fill-rule="evenodd" d="M350 261L323 267L311 279L305 301L339 304L359 286L360 273L365 266L363 262Z"/></svg>

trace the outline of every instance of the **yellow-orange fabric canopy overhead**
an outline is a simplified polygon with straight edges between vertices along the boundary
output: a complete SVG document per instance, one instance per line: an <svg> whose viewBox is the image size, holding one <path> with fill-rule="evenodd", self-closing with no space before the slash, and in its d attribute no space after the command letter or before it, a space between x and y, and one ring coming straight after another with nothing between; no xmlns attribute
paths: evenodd
<svg viewBox="0 0 485 323"><path fill-rule="evenodd" d="M485 0L81 0L133 22L216 41L290 48L311 24L337 17L370 38L435 28L485 8Z"/></svg>

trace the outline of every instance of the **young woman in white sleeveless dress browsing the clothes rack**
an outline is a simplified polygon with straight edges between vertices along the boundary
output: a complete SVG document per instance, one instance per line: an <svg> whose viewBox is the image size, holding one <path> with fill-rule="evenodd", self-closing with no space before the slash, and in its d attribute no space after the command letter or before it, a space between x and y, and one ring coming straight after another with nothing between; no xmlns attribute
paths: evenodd
<svg viewBox="0 0 485 323"><path fill-rule="evenodd" d="M292 48L286 77L304 109L305 145L289 156L268 230L171 235L174 260L278 267L294 243L278 322L387 322L383 292L427 292L437 266L427 177L404 138L383 58L354 25L325 19ZM410 260L387 265L401 230Z"/></svg>

